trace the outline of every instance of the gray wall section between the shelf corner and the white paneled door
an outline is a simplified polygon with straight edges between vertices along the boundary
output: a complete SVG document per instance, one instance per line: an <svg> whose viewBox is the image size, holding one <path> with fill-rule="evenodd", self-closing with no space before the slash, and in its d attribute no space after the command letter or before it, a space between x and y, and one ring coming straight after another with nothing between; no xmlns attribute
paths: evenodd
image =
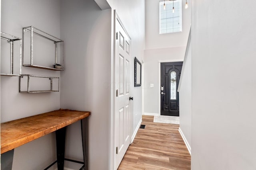
<svg viewBox="0 0 256 170"><path fill-rule="evenodd" d="M89 169L107 169L110 164L111 10L102 11L94 0L63 0L60 25L66 47L60 106L91 111ZM67 135L66 157L82 160L80 122L71 125Z"/></svg>

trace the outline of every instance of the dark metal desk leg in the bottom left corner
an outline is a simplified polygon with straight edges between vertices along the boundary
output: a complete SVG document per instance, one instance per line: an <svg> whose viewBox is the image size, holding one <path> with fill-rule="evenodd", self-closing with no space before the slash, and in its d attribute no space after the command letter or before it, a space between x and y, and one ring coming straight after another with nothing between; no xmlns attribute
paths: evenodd
<svg viewBox="0 0 256 170"><path fill-rule="evenodd" d="M12 170L14 149L1 154L1 170Z"/></svg>

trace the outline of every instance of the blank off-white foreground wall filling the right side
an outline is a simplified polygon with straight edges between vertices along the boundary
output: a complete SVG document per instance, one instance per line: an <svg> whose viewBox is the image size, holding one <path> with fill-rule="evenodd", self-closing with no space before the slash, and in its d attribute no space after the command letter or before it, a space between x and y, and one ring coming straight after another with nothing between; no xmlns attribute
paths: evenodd
<svg viewBox="0 0 256 170"><path fill-rule="evenodd" d="M192 170L256 169L256 2L192 4Z"/></svg>

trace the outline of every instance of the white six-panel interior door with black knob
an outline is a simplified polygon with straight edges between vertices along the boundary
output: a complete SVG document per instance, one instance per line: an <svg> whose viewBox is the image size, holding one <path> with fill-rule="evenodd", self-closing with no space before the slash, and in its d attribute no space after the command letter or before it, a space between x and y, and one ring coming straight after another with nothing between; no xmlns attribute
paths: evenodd
<svg viewBox="0 0 256 170"><path fill-rule="evenodd" d="M115 20L115 169L118 168L131 141L131 39L120 19Z"/></svg>

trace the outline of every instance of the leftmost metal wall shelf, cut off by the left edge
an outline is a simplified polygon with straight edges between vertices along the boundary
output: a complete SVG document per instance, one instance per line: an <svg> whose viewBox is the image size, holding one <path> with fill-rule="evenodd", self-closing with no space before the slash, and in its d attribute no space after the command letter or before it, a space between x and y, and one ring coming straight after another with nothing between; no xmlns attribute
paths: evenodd
<svg viewBox="0 0 256 170"><path fill-rule="evenodd" d="M10 43L10 73L0 73L1 76L20 76L21 74L21 55L22 55L22 39L19 37L15 37L13 35L10 35L8 33L1 32L1 39L6 40L8 43ZM14 42L20 41L20 74L14 74L13 73L13 63L14 63ZM1 56L2 57L2 56Z"/></svg>

